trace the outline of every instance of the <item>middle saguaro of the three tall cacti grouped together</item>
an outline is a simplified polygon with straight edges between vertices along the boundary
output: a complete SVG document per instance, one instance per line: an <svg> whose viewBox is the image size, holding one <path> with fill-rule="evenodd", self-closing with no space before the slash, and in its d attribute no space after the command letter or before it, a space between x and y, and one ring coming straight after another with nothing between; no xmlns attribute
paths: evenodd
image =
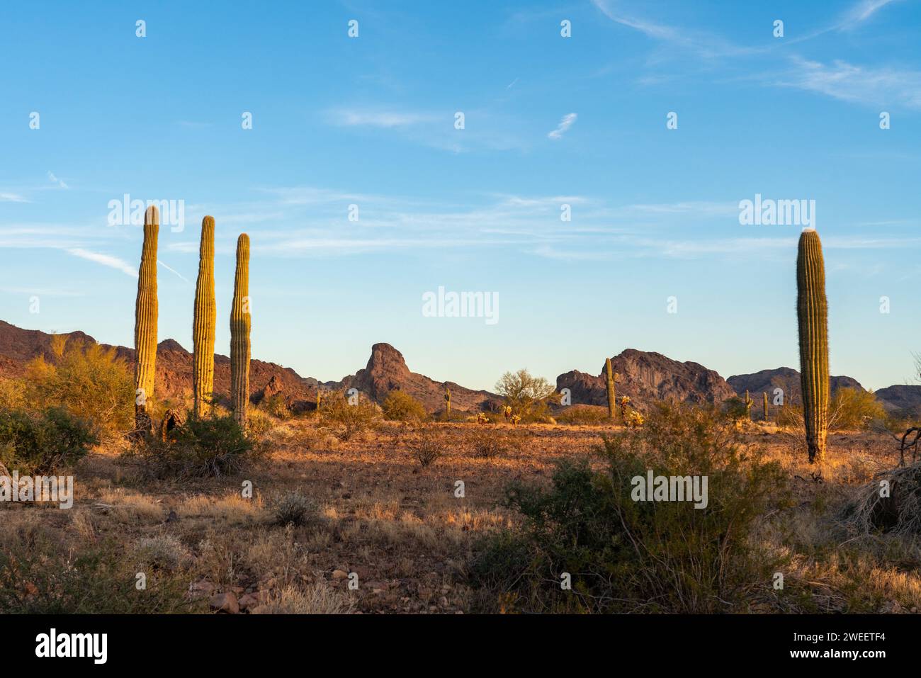
<svg viewBox="0 0 921 678"><path fill-rule="evenodd" d="M211 409L215 386L215 217L202 219L192 320L192 396L196 416Z"/></svg>

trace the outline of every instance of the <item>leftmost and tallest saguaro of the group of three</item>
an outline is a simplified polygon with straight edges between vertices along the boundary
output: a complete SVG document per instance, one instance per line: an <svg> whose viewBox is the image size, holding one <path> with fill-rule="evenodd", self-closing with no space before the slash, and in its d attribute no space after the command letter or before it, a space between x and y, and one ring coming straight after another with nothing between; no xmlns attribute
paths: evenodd
<svg viewBox="0 0 921 678"><path fill-rule="evenodd" d="M154 397L157 371L157 235L160 215L157 207L144 214L144 246L137 273L137 299L134 302L134 433L151 430L150 400Z"/></svg>

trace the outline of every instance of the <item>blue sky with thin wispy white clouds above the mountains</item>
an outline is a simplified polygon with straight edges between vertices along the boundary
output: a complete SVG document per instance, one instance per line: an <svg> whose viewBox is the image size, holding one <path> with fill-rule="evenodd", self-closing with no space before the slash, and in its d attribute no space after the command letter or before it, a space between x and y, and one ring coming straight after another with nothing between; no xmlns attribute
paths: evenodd
<svg viewBox="0 0 921 678"><path fill-rule="evenodd" d="M800 227L740 225L760 193L815 201L832 373L904 383L919 29L917 0L5 3L0 318L132 345L142 233L108 223L128 193L184 201L160 230L159 338L189 348L210 214L216 350L245 231L252 355L305 376L375 342L475 388L627 347L796 368ZM438 286L497 294L498 321L425 317Z"/></svg>

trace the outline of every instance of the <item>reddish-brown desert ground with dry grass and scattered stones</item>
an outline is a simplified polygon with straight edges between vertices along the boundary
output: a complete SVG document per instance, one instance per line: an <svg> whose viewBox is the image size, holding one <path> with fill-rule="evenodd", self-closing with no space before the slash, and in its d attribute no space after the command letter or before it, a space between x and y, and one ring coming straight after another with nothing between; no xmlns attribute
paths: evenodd
<svg viewBox="0 0 921 678"><path fill-rule="evenodd" d="M437 450L426 466L420 434ZM127 442L110 443L77 463L72 509L0 506L8 558L0 595L11 612L527 611L514 594L470 576L484 539L520 527L505 488L549 485L567 459L597 466L601 437L618 434L629 432L378 421L342 439L311 417L273 420L260 462L181 482L147 477L123 455ZM785 563L783 595L770 579L756 581L743 608L727 611L917 612L916 540L854 533L840 518L875 473L897 466L891 437L831 433L821 475L774 426L746 423L740 440L779 463L792 501L762 516L750 536Z"/></svg>

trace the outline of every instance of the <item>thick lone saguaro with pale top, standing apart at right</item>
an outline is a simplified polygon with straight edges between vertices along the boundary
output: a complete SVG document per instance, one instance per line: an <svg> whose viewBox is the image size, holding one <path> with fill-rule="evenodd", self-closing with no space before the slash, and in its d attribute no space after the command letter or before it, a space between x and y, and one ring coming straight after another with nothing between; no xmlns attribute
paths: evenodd
<svg viewBox="0 0 921 678"><path fill-rule="evenodd" d="M809 461L814 463L821 462L825 456L830 399L825 263L822 260L822 242L814 228L805 229L799 236L797 318L806 445Z"/></svg>

